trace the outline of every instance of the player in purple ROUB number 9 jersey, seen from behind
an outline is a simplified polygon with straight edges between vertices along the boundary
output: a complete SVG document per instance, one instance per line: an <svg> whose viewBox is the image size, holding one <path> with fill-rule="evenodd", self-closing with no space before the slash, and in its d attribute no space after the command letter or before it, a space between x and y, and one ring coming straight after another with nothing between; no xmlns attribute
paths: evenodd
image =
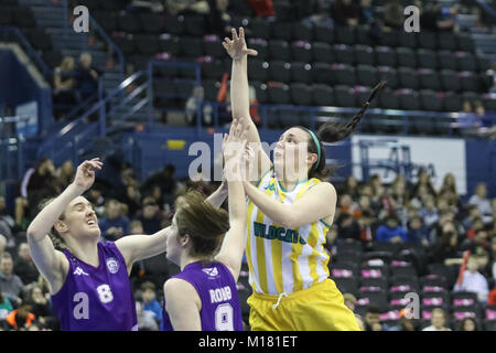
<svg viewBox="0 0 496 353"><path fill-rule="evenodd" d="M246 200L238 176L245 135L241 125L234 124L224 139L226 165L236 165L230 178L226 175L229 214L188 192L174 215L166 256L181 272L163 286L164 331L242 331L236 281L246 242ZM230 153L233 149L224 148L229 142L241 148Z"/></svg>

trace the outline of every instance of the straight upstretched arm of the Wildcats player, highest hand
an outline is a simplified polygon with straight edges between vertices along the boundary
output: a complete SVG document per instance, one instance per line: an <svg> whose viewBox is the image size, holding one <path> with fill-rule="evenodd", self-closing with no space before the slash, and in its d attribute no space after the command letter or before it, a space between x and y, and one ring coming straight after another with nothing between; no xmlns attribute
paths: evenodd
<svg viewBox="0 0 496 353"><path fill-rule="evenodd" d="M248 87L248 55L257 55L257 51L247 49L245 42L245 30L239 28L239 35L233 29L233 39L224 39L223 45L233 57L231 79L230 79L230 105L233 120L245 117L244 124L248 142L260 143L260 136L257 127L250 117L250 98ZM259 147L261 147L259 145ZM256 149L259 162L258 176L260 178L270 168L270 159L261 148Z"/></svg>

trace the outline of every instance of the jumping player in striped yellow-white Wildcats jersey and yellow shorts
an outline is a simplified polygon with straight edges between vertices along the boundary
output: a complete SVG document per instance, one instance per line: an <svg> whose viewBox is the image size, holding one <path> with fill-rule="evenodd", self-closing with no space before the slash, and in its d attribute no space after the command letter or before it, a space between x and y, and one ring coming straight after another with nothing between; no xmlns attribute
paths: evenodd
<svg viewBox="0 0 496 353"><path fill-rule="evenodd" d="M325 235L336 207L336 191L325 182L321 139L304 127L293 127L279 139L273 164L260 146L257 128L249 117L247 55L242 28L239 36L223 42L233 57L233 119L244 124L248 141L257 145L255 167L259 181L244 182L249 197L246 255L254 295L249 324L254 331L359 330L343 295L328 278ZM321 138L336 142L348 137L369 101L384 83L376 86L359 113L346 125L325 124Z"/></svg>

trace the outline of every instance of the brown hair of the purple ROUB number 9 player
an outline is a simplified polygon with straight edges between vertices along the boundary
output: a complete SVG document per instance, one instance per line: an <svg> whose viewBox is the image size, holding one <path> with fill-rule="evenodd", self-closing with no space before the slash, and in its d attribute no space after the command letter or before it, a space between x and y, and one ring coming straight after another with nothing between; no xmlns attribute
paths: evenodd
<svg viewBox="0 0 496 353"><path fill-rule="evenodd" d="M224 234L229 231L229 214L205 202L196 190L182 195L181 205L176 205L176 210L179 235L187 234L192 240L190 255L215 256Z"/></svg>

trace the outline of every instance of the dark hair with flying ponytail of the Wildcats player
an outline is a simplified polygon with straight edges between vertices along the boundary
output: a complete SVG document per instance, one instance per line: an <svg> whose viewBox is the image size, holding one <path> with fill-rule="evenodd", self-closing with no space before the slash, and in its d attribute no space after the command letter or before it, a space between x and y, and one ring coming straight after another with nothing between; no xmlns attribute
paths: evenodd
<svg viewBox="0 0 496 353"><path fill-rule="evenodd" d="M365 111L370 106L370 103L376 97L377 93L380 89L382 89L382 87L385 85L386 85L386 81L381 81L371 89L370 96L362 105L360 110L353 117L353 119L351 121L348 121L346 124L325 122L324 125L322 125L319 128L319 130L316 132L316 137L319 140L320 150L321 150L321 160L317 165L314 164L310 169L309 179L316 178L320 180L325 180L325 179L330 178L334 173L334 171L341 167L341 165L330 167L330 165L325 164L325 149L324 149L324 145L322 142L323 141L331 142L331 143L338 142L338 141L346 139L349 135L352 135L352 132L355 131L355 129L356 129L358 122L360 121L362 117L364 116ZM299 128L305 130L310 135L309 152L319 154L319 149L317 149L317 146L316 146L314 139L312 138L311 131L305 127L299 126Z"/></svg>

